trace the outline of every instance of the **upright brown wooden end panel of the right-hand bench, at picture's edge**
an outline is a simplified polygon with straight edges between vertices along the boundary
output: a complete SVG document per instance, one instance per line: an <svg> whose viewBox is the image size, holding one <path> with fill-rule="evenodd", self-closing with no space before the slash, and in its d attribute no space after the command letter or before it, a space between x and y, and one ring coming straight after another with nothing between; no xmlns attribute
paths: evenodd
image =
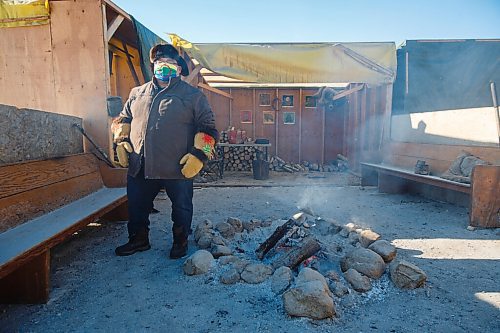
<svg viewBox="0 0 500 333"><path fill-rule="evenodd" d="M500 227L500 166L476 165L472 170L470 225Z"/></svg>

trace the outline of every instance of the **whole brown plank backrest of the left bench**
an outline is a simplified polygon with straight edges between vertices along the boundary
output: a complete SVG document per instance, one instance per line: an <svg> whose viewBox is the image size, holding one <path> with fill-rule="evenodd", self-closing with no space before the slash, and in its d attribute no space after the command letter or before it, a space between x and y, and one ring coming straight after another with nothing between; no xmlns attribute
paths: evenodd
<svg viewBox="0 0 500 333"><path fill-rule="evenodd" d="M104 186L92 154L0 166L0 232Z"/></svg>

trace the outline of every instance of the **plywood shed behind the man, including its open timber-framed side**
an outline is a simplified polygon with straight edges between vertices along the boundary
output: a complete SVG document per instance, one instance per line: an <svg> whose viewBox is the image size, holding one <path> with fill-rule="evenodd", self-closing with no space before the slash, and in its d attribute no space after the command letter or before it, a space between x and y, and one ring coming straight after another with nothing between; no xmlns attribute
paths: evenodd
<svg viewBox="0 0 500 333"><path fill-rule="evenodd" d="M149 79L141 56L163 40L110 0L48 3L40 24L0 27L0 103L82 118L111 149L109 98Z"/></svg>

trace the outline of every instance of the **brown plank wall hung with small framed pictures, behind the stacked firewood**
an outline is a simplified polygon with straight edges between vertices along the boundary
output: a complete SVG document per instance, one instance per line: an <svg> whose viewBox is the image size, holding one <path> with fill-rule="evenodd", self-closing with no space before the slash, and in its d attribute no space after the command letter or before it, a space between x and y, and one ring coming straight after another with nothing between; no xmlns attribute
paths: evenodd
<svg viewBox="0 0 500 333"><path fill-rule="evenodd" d="M347 89L355 87L350 85ZM386 99L391 89L392 86L364 87L339 99L334 111L305 107L306 96L313 95L318 88L222 89L231 94L232 100L206 94L219 130L234 126L245 130L252 139L267 138L273 155L295 163L304 160L328 163L336 159L337 154L344 154L350 159L351 168L358 170L361 160L381 158L383 121L390 108ZM278 98L279 110L260 106L260 94L269 94L271 101ZM293 96L293 106L281 106L283 95ZM251 112L251 123L241 122L241 111ZM274 124L264 123L264 112L274 113ZM284 123L285 112L295 112L295 124Z"/></svg>

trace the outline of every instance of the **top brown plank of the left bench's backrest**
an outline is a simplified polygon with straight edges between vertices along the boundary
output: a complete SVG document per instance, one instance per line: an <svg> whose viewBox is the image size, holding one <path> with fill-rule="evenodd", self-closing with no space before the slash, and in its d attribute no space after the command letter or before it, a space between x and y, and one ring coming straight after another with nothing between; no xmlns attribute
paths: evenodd
<svg viewBox="0 0 500 333"><path fill-rule="evenodd" d="M79 154L0 167L0 199L32 191L97 170L95 157Z"/></svg>

